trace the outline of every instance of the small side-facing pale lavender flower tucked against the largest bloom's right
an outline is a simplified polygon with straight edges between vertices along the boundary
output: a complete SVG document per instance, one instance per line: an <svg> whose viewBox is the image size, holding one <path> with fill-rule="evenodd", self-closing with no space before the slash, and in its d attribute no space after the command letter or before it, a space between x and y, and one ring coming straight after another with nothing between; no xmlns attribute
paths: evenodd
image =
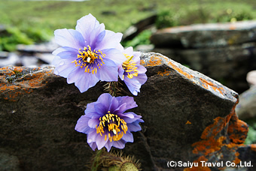
<svg viewBox="0 0 256 171"><path fill-rule="evenodd" d="M133 52L133 47L128 47L123 50L123 55L126 61L118 66L119 77L133 95L138 95L142 84L148 80L147 69L140 65L141 52Z"/></svg>

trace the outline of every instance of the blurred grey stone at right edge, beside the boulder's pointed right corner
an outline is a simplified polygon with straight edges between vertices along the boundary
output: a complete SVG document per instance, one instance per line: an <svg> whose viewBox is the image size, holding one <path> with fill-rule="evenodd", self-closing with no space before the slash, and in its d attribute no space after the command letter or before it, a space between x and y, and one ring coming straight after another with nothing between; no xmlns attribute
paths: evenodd
<svg viewBox="0 0 256 171"><path fill-rule="evenodd" d="M239 95L239 104L236 113L241 119L254 118L256 116L256 86Z"/></svg>

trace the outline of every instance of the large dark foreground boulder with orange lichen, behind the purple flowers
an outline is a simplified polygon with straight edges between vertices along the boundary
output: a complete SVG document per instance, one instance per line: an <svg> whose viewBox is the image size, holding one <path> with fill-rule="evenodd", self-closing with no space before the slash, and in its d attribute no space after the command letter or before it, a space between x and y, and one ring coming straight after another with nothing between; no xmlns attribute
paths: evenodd
<svg viewBox="0 0 256 171"><path fill-rule="evenodd" d="M139 107L133 111L145 123L133 133L135 140L126 144L124 154L134 154L144 170L189 167L170 166L169 161L251 160L256 166L254 146L242 145L248 127L236 117L236 92L154 52L144 53L141 62L148 81L135 97ZM0 148L17 157L23 170L86 169L93 151L86 135L74 127L86 104L103 93L104 84L81 94L54 75L53 68L2 68Z"/></svg>

